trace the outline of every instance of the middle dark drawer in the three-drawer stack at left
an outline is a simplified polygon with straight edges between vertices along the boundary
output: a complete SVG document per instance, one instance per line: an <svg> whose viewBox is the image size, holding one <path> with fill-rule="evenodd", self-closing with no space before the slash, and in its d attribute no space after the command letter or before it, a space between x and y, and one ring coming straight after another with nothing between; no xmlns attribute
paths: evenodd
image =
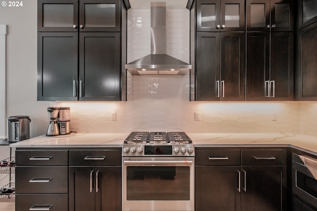
<svg viewBox="0 0 317 211"><path fill-rule="evenodd" d="M68 193L67 167L16 167L16 193Z"/></svg>

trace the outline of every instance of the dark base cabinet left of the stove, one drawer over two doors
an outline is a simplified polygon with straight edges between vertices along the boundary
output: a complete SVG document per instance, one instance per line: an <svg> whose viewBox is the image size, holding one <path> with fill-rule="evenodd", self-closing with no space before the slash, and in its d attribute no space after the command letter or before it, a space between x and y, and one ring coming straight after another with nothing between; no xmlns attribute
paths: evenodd
<svg viewBox="0 0 317 211"><path fill-rule="evenodd" d="M121 211L121 148L69 150L69 211Z"/></svg>

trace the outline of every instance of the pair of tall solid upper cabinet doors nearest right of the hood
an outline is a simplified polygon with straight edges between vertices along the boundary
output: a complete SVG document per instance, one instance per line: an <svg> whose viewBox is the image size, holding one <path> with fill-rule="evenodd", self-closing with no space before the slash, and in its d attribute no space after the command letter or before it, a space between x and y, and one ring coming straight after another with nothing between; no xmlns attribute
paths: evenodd
<svg viewBox="0 0 317 211"><path fill-rule="evenodd" d="M244 100L245 33L197 33L196 100Z"/></svg>

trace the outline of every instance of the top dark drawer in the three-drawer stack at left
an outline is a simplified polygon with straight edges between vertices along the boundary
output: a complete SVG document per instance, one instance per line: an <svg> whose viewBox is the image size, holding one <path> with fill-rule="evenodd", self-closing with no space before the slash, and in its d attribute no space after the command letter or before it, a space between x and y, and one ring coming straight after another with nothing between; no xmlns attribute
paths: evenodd
<svg viewBox="0 0 317 211"><path fill-rule="evenodd" d="M67 166L67 150L17 150L17 166Z"/></svg>

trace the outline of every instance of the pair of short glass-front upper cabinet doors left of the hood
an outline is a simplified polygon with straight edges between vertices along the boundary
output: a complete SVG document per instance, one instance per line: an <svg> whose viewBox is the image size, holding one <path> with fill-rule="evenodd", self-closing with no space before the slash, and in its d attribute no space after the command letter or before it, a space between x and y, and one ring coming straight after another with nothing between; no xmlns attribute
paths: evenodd
<svg viewBox="0 0 317 211"><path fill-rule="evenodd" d="M39 32L120 32L118 0L39 0Z"/></svg>

